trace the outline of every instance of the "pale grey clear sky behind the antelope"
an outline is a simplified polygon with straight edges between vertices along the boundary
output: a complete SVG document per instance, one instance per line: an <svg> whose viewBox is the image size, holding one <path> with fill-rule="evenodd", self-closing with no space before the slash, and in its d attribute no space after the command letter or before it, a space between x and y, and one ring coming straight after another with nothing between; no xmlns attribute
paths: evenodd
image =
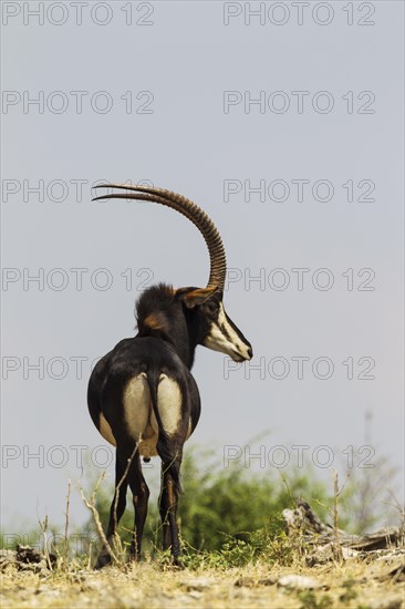
<svg viewBox="0 0 405 609"><path fill-rule="evenodd" d="M3 529L37 512L63 522L77 446L112 456L86 384L91 362L133 334L139 290L208 277L185 218L91 203L101 179L179 192L222 235L226 307L255 359L236 369L198 349L189 444L220 456L270 429L250 445L270 469L309 446L328 478L364 444L403 468L403 3L2 11ZM75 491L72 519L84 518Z"/></svg>

